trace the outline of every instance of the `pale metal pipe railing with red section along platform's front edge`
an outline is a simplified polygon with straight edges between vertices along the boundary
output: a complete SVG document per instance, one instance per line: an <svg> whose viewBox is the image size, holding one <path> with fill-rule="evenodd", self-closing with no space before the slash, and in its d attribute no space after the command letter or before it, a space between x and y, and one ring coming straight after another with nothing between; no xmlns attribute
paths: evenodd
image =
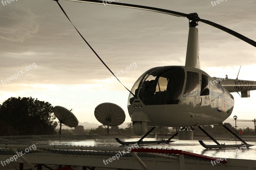
<svg viewBox="0 0 256 170"><path fill-rule="evenodd" d="M24 145L24 144L0 144L0 148L9 148L10 150L13 151L14 154L16 154L15 149L26 149L30 145ZM153 148L131 148L130 151L128 150L129 147L108 147L108 146L76 146L76 145L35 145L36 146L36 151L41 152L42 150L52 150L52 151L63 151L63 152L70 152L70 151L97 151L97 152L102 152L102 151L109 151L109 152L119 152L120 150L130 153L134 159L138 161L140 166L144 169L147 170L147 166L142 162L138 154L143 154L146 153L149 156L152 157L160 157L160 158L167 158L167 159L173 159L176 161L180 162L180 167L181 170L185 170L185 161L184 161L184 156L187 157L193 157L197 159L203 159L203 160L219 160L218 158L213 158L201 154L196 154L192 152L186 152L182 150L175 150L175 149L153 149ZM34 147L35 147L34 146ZM137 154L136 154L137 153ZM174 155L174 156L173 156ZM177 156L175 156L177 155ZM24 157L23 157L24 158ZM24 162L30 164L25 158L22 159ZM221 163L227 163L227 161L224 160L219 160ZM30 164L31 165L31 164ZM31 167L32 168L32 167ZM33 168L34 169L34 168Z"/></svg>

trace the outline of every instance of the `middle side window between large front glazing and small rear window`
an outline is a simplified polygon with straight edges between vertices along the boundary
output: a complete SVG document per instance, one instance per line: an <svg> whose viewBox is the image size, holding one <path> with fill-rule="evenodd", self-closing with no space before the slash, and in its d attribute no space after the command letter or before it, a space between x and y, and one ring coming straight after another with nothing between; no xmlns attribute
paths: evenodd
<svg viewBox="0 0 256 170"><path fill-rule="evenodd" d="M187 71L187 82L183 97L197 96L199 86L199 74Z"/></svg>

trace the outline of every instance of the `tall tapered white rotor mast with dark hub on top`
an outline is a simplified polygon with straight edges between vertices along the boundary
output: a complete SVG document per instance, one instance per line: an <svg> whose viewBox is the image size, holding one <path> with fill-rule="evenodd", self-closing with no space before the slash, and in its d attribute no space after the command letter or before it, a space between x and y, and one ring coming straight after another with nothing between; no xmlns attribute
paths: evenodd
<svg viewBox="0 0 256 170"><path fill-rule="evenodd" d="M199 17L197 13L189 14L188 45L185 66L200 69L198 26Z"/></svg>

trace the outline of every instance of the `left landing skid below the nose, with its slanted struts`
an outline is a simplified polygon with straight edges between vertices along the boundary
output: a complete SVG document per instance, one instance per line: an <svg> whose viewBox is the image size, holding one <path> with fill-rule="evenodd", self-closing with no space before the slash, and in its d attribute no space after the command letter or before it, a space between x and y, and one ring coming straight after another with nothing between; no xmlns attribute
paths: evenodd
<svg viewBox="0 0 256 170"><path fill-rule="evenodd" d="M173 137L175 137L176 135L178 135L178 132L176 132L172 137L170 137L169 139L167 140L155 140L155 141L142 141L146 136L148 136L148 134L150 132L152 132L152 130L154 130L156 127L153 127L151 128L143 137L140 138L140 140L138 140L137 142L124 142L124 141L121 141L120 139L118 138L115 138L116 141L119 143L119 144L122 144L122 145L131 145L131 144L169 144L171 142L175 142L175 141L171 141L171 139ZM185 129L185 127L181 128L180 130L183 130Z"/></svg>

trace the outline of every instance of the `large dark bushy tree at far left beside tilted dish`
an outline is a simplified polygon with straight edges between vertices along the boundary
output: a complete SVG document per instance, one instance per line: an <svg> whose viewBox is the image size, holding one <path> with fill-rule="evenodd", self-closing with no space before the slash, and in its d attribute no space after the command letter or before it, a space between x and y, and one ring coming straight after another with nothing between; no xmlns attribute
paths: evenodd
<svg viewBox="0 0 256 170"><path fill-rule="evenodd" d="M50 103L32 97L11 97L0 105L0 117L19 135L50 135L57 126L52 109Z"/></svg>

